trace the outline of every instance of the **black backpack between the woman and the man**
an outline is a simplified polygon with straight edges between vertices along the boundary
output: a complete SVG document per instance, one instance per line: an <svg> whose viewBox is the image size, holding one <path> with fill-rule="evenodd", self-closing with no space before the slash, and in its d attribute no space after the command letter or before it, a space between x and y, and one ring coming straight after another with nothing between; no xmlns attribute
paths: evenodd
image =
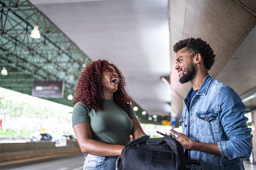
<svg viewBox="0 0 256 170"><path fill-rule="evenodd" d="M116 161L116 169L187 169L182 145L171 136L142 136L127 144Z"/></svg>

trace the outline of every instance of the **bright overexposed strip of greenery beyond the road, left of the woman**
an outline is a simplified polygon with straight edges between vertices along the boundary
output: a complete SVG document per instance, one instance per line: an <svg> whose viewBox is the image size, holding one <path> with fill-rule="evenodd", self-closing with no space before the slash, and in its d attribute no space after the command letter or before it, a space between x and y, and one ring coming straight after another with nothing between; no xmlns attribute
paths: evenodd
<svg viewBox="0 0 256 170"><path fill-rule="evenodd" d="M34 131L65 131L73 134L73 107L54 103L45 99L22 94L0 87L0 120L2 128L12 129L0 137L27 137Z"/></svg>

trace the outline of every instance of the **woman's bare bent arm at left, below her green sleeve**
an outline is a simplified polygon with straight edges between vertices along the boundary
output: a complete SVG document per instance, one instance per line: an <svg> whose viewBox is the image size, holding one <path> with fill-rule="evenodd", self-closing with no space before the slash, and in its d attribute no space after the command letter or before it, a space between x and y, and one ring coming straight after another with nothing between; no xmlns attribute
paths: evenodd
<svg viewBox="0 0 256 170"><path fill-rule="evenodd" d="M73 126L79 146L84 153L97 156L118 156L124 148L123 145L108 144L92 139L89 122L82 122Z"/></svg>

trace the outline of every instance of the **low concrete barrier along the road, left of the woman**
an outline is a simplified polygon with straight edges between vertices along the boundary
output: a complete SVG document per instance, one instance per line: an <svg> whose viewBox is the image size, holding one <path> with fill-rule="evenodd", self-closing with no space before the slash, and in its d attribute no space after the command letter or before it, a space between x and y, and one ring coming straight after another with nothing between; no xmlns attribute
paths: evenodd
<svg viewBox="0 0 256 170"><path fill-rule="evenodd" d="M73 140L60 147L55 142L0 143L0 162L79 151L78 141Z"/></svg>

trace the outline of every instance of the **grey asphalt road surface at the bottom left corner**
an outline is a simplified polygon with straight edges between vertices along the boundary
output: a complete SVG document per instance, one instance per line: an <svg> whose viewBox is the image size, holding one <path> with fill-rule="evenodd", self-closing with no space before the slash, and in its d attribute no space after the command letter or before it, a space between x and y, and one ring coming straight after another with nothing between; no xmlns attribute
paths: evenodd
<svg viewBox="0 0 256 170"><path fill-rule="evenodd" d="M1 170L82 170L84 165L82 152L35 157L0 163Z"/></svg>

